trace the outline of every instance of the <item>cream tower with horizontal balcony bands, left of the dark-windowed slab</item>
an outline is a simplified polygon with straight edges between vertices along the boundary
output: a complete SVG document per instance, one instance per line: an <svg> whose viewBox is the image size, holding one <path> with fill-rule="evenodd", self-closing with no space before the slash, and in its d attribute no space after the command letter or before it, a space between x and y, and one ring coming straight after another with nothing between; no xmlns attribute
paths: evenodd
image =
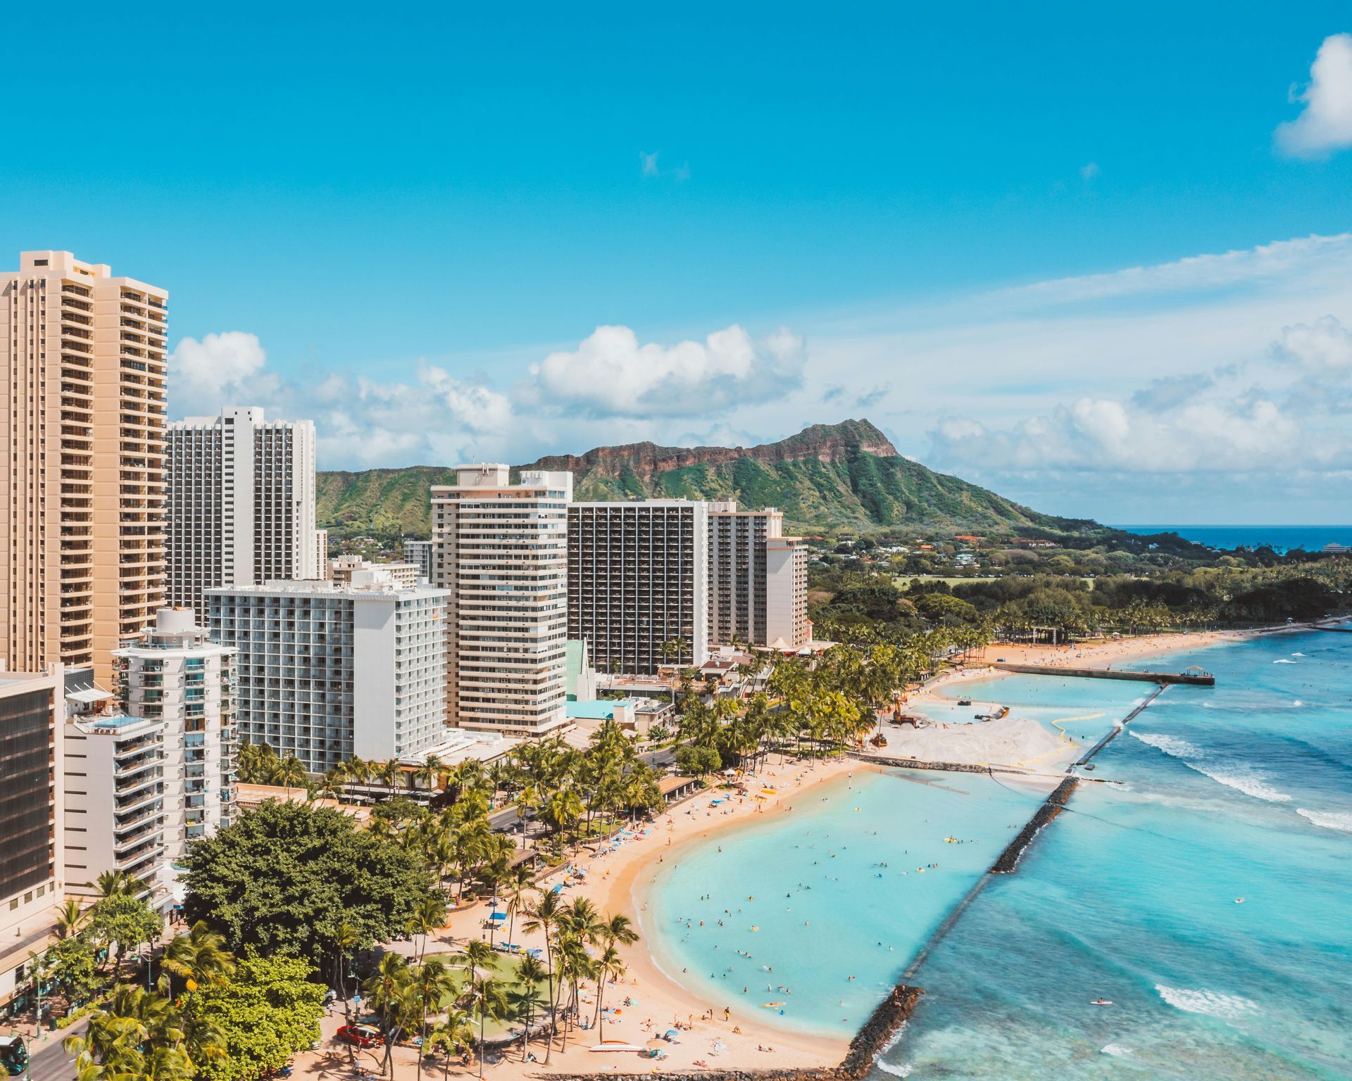
<svg viewBox="0 0 1352 1081"><path fill-rule="evenodd" d="M446 715L537 735L566 718L571 473L468 465L431 489L431 577L448 590Z"/></svg>

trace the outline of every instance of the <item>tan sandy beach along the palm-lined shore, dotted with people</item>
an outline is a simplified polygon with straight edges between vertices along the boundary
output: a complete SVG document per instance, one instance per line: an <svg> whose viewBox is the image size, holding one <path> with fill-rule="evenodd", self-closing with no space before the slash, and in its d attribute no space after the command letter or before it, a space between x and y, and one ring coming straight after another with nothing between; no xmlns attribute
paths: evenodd
<svg viewBox="0 0 1352 1081"><path fill-rule="evenodd" d="M1110 666L1182 649L1240 642L1257 634L1256 631L1169 634L1056 647L991 646L986 653L1014 663ZM973 666L944 673L909 697L911 701L949 701L946 696L940 696L936 690L957 681L988 680L1005 674L976 662ZM961 734L959 730L986 730L990 732L992 724L998 726L999 723L949 726L941 735L941 742L946 743L949 750L944 751L940 761L963 762L963 758L955 753L956 736ZM1036 722L1025 722L1025 724L1036 726ZM998 727L995 731L999 731ZM1048 738L1051 738L1049 734ZM1029 763L1037 768L1030 768L1026 777L1019 780L1025 780L1029 785L1055 788L1064 780L1069 763L1079 757L1080 747L1067 743L1064 747L1057 747L1055 755L1046 757L1046 745L1044 743L1034 751L1044 755L1044 761ZM882 754L887 754L887 751ZM1015 762L1003 763L1003 766L1018 769ZM564 897L566 900L577 896L588 897L603 916L625 913L634 919L635 924L641 924L642 907L646 904L645 890L653 885L657 866L665 863L668 858L679 858L680 851L687 846L707 842L735 826L773 822L777 816L788 813L794 800L800 799L807 790L818 790L819 786L841 780L848 773L883 770L894 765L898 763L869 762L867 758L853 755L834 759L767 762L754 776L745 778L746 796L735 793L729 796L729 790L721 792L718 788L702 789L696 796L664 809L652 823L630 834L629 839L614 847L612 851L584 851L575 855L571 866L581 869L584 877L579 881L576 876L572 876ZM975 765L988 763L975 762ZM764 792L764 789L772 792ZM717 797L725 799L718 809L711 807L711 800ZM644 881L644 876L648 876L648 881ZM542 889L550 889L562 882L565 877L569 877L566 869L560 869L541 878L538 885ZM488 907L476 904L453 912L448 926L431 936L427 953L461 950L466 940L485 938L487 932L483 924L489 911ZM516 945L526 949L542 947L544 939L538 934L525 934L523 923L525 917L518 917L514 934ZM542 1061L522 1062L518 1040L496 1062L489 1062L488 1072L493 1077L502 1078L552 1076L554 1073L599 1076L611 1072L623 1074L781 1073L833 1069L842 1062L849 1051L849 1035L831 1036L786 1031L754 1013L744 1015L738 1009L730 1011L725 1019L725 1005L733 1004L706 1001L706 996L702 996L696 989L681 984L672 974L664 972L645 940L646 927L644 935L645 938L641 938L634 946L621 949L626 974L607 988L606 1004L619 1007L618 1012L603 1017L599 1028L573 1028L568 1036L566 1049L560 1049L556 1039L548 1067ZM411 953L412 945L396 943L395 949ZM898 972L898 978L900 978L900 972ZM625 1004L626 999L631 1005ZM588 990L581 1001L581 1012L588 1022L594 1008L594 992ZM296 1063L297 1076L323 1078L352 1076L347 1069L346 1049L331 1039L331 1032L339 1023L341 1017L338 1020L330 1019L330 1023L324 1026L327 1047L315 1057L300 1057ZM618 1040L639 1047L658 1046L654 1045L654 1038L660 1038L669 1028L679 1028L679 1042L660 1045L665 1053L662 1059L641 1058L637 1051L598 1054L588 1050L602 1040ZM537 1038L531 1047L535 1055L544 1059L544 1040ZM395 1059L404 1058L407 1058L408 1065L412 1065L412 1049L396 1049ZM453 1067L452 1073L475 1073L476 1069L472 1066L466 1072Z"/></svg>

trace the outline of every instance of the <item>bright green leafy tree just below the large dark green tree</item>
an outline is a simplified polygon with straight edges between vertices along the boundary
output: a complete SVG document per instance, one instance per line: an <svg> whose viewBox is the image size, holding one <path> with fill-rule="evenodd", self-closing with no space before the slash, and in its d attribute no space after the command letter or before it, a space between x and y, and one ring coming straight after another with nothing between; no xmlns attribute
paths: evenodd
<svg viewBox="0 0 1352 1081"><path fill-rule="evenodd" d="M226 1057L206 1062L203 1081L249 1081L281 1069L319 1039L324 988L315 969L295 957L247 957L233 978L195 992L188 1012L215 1027Z"/></svg>

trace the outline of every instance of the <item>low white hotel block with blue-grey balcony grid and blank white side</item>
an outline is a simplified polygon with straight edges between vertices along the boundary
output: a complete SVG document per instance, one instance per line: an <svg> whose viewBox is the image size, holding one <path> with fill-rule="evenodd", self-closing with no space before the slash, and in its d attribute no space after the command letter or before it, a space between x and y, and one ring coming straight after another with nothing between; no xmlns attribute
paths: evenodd
<svg viewBox="0 0 1352 1081"><path fill-rule="evenodd" d="M239 740L310 773L445 739L446 590L353 578L207 590L211 636L238 650Z"/></svg>

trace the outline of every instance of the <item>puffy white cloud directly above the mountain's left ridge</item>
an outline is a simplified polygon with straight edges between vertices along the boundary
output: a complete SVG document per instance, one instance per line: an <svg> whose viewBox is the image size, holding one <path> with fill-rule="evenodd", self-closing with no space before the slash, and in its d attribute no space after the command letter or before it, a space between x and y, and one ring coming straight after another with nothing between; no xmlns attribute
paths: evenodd
<svg viewBox="0 0 1352 1081"><path fill-rule="evenodd" d="M708 416L781 399L802 380L803 341L779 330L761 341L735 323L703 342L641 345L629 327L596 327L576 350L531 365L538 401L594 416Z"/></svg>

